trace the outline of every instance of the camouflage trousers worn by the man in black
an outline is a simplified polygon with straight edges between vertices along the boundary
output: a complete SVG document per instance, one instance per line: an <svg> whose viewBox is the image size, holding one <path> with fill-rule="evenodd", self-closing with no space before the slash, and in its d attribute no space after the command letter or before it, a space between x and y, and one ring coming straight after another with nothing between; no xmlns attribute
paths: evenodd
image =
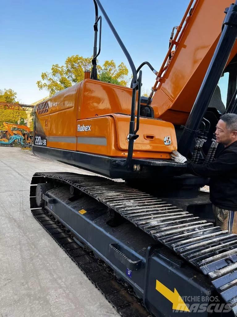
<svg viewBox="0 0 237 317"><path fill-rule="evenodd" d="M215 215L215 225L221 230L228 230L230 234L237 233L237 211L226 210L212 205Z"/></svg>

